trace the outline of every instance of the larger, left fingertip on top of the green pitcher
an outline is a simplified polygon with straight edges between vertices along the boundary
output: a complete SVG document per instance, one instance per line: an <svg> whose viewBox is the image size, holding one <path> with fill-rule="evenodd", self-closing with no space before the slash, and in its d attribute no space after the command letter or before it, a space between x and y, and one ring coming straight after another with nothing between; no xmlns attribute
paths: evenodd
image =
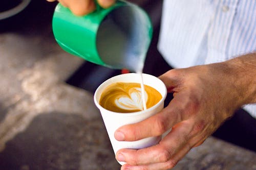
<svg viewBox="0 0 256 170"><path fill-rule="evenodd" d="M61 2L60 2L61 3ZM96 9L94 1L73 0L66 2L67 7L77 16L93 12Z"/></svg>

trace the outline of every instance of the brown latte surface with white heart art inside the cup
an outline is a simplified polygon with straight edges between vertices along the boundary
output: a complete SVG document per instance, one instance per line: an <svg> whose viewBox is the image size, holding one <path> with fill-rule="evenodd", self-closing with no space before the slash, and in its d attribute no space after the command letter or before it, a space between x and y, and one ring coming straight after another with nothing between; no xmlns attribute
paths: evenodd
<svg viewBox="0 0 256 170"><path fill-rule="evenodd" d="M144 85L146 108L156 105L162 95L153 87ZM99 104L107 110L130 113L143 110L142 93L139 83L118 82L104 89Z"/></svg>

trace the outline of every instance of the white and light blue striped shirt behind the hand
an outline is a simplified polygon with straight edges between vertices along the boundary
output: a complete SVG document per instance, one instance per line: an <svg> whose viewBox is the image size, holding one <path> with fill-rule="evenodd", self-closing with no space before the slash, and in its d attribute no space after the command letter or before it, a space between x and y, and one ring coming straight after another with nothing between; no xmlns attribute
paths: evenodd
<svg viewBox="0 0 256 170"><path fill-rule="evenodd" d="M164 0L158 50L174 68L255 52L256 1ZM256 118L256 104L244 109Z"/></svg>

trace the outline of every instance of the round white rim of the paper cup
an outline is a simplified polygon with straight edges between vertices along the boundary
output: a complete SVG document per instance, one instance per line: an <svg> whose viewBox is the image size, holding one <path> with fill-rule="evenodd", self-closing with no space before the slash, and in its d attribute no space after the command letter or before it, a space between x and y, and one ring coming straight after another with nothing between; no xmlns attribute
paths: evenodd
<svg viewBox="0 0 256 170"><path fill-rule="evenodd" d="M135 74L137 74L137 73L127 73L127 74L130 74L130 75L135 75ZM109 81L111 81L111 80L113 80L113 79L116 79L116 77L121 77L121 76L123 76L124 74L122 74L122 75L117 75L117 76L114 76L114 77L112 77L112 78L110 78L110 79L108 79L108 80L106 80L106 81L104 81L103 83L101 83L100 85L99 85L99 87L96 89L96 91L95 91L95 93L94 93L94 103L95 103L95 105L97 106L97 108L98 109L100 109L100 110L104 110L104 112L108 112L108 113L110 113L110 114L125 114L125 116L134 116L134 115L137 115L137 114L142 114L143 112L145 112L145 111L151 111L151 110L154 110L156 107L158 107L159 105L160 105L160 103L162 103L164 100L165 100L165 98L166 98L166 95L167 95L167 89L166 89L166 86L165 86L165 84L162 82L162 80L160 80L159 78L157 78L157 77L155 77L155 76L153 76L153 75L148 75L148 74L142 74L142 75L146 75L146 76L152 76L152 77L155 77L155 78L157 78L159 81L160 81L160 83L161 84L163 84L163 86L165 87L164 89L164 93L163 93L163 95L162 95L162 99L157 103L157 104L155 104L154 106L152 106L151 108L148 108L148 109L146 109L146 110L141 110L141 111L137 111L137 112L129 112L129 113L118 113L118 112L114 112L114 111L111 111L111 110L108 110L108 109L105 109L105 108L103 108L100 104L99 104L99 102L97 101L97 99L96 99L96 94L99 92L99 90L102 88L102 86L104 86L106 83L108 83ZM126 74L125 74L126 75Z"/></svg>

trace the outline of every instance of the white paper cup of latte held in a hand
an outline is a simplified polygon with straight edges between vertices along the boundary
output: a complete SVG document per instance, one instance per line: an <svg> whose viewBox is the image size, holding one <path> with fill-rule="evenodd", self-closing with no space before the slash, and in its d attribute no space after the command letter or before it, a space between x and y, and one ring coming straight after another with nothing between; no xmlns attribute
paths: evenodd
<svg viewBox="0 0 256 170"><path fill-rule="evenodd" d="M116 82L140 83L141 82L140 74L130 73L130 74L123 74L123 75L118 75L113 78L110 78L109 80L106 80L105 82L103 82L97 88L94 94L94 102L100 110L101 116L105 124L106 131L108 132L115 154L117 153L118 150L124 149L124 148L142 149L146 147L151 147L152 145L157 144L161 140L161 136L148 137L138 141L118 141L114 137L114 133L119 127L127 124L134 124L134 123L141 122L142 120L158 113L163 109L164 100L167 93L166 86L157 77L154 77L152 75L147 75L147 74L143 74L142 76L143 76L143 81L145 85L155 88L162 95L162 99L155 106L147 110L133 112L133 113L117 113L117 112L106 110L99 105L100 95L106 87ZM124 164L124 162L119 162L119 163L121 165Z"/></svg>

